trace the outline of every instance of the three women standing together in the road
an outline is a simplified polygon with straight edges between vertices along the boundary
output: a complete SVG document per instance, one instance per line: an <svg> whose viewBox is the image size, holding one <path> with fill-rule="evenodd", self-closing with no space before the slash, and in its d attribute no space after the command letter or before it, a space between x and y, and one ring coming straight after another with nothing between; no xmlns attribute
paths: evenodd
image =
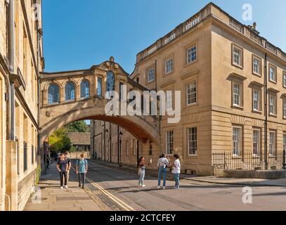
<svg viewBox="0 0 286 225"><path fill-rule="evenodd" d="M181 162L179 160L180 156L175 154L174 156L174 163L172 164L167 159L167 155L162 154L157 162L158 167L158 186L157 188L161 188L161 179L163 175L163 189L166 189L166 179L167 179L167 168L172 168L172 174L174 174L174 181L175 181L175 189L180 188L180 174L181 174ZM139 181L138 185L141 187L145 187L144 178L145 178L145 158L141 157L138 161L138 175Z"/></svg>

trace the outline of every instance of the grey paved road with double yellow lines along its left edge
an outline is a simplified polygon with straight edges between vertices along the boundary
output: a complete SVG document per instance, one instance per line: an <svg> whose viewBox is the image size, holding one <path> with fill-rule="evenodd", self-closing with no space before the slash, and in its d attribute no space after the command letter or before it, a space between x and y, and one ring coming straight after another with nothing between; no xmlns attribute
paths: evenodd
<svg viewBox="0 0 286 225"><path fill-rule="evenodd" d="M286 188L253 187L252 204L242 203L243 186L167 181L158 190L154 177L145 178L145 188L137 186L138 176L102 162L89 162L87 192L101 210L286 210Z"/></svg>

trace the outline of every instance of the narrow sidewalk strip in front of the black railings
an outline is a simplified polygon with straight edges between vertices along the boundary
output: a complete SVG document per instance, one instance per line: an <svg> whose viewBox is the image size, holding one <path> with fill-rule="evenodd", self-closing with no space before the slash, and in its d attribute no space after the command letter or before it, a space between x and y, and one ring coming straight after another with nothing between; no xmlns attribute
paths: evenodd
<svg viewBox="0 0 286 225"><path fill-rule="evenodd" d="M286 179L237 179L216 176L195 176L187 177L186 180L197 181L209 184L228 184L241 186L286 186Z"/></svg>

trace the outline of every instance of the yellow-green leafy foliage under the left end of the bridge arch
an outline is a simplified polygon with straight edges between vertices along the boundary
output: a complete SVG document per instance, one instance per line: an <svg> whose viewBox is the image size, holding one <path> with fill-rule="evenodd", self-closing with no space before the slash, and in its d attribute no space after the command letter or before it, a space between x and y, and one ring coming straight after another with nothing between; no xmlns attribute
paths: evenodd
<svg viewBox="0 0 286 225"><path fill-rule="evenodd" d="M67 129L62 128L55 131L49 138L48 144L51 151L63 152L69 151L72 148L72 142L67 136Z"/></svg>

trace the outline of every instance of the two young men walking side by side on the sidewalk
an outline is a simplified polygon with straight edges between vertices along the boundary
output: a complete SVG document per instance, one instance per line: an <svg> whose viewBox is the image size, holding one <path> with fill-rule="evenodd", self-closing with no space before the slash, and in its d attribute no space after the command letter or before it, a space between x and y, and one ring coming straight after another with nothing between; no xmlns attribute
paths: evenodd
<svg viewBox="0 0 286 225"><path fill-rule="evenodd" d="M70 169L72 168L72 163L70 158L67 157L68 153L60 153L57 161L57 169L60 174L60 189L67 188L67 183L70 178ZM84 158L84 154L80 155L80 159L75 163L75 172L79 178L79 188L84 189L86 173L89 167L89 163Z"/></svg>

